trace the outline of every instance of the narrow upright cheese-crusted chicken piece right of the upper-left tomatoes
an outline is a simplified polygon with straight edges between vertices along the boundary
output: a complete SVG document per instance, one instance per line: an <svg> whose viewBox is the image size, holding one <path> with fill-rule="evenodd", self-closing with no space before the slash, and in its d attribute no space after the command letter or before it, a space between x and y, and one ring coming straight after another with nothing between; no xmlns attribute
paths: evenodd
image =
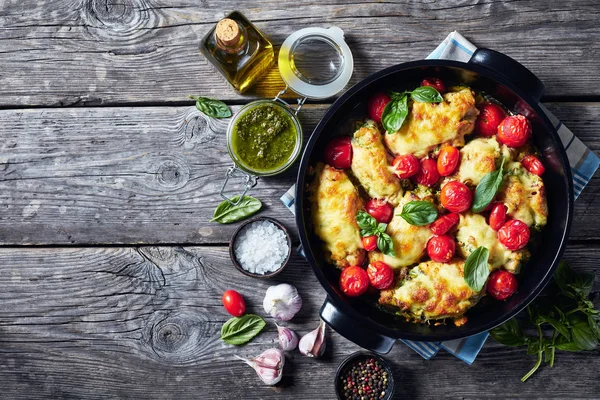
<svg viewBox="0 0 600 400"><path fill-rule="evenodd" d="M398 204L402 197L400 179L391 171L381 133L372 121L354 132L352 173L370 197Z"/></svg>

